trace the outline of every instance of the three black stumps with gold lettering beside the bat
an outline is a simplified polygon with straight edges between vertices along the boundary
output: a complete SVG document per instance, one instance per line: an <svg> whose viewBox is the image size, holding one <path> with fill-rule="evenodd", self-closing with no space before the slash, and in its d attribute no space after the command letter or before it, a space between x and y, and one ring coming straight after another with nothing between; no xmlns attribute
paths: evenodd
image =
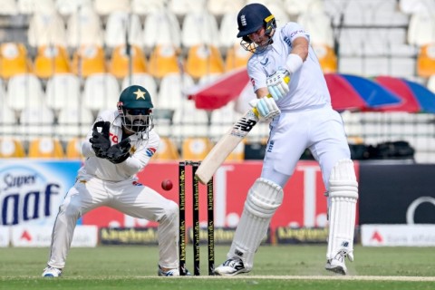
<svg viewBox="0 0 435 290"><path fill-rule="evenodd" d="M192 218L193 218L193 275L199 271L199 184L195 179L199 161L179 162L179 275L187 275L186 270L186 166L192 169ZM208 275L215 270L215 223L213 178L207 184L207 233L208 233Z"/></svg>

